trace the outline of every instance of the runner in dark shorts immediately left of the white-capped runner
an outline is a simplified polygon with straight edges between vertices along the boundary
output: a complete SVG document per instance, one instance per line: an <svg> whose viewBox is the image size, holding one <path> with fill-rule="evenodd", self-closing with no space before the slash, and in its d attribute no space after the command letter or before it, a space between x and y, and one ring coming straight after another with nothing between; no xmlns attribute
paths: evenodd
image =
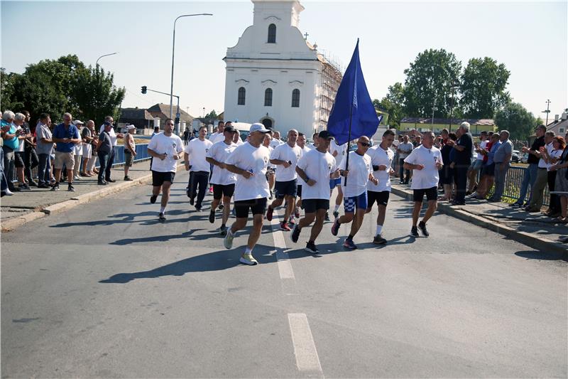
<svg viewBox="0 0 568 379"><path fill-rule="evenodd" d="M236 149L236 144L233 142L235 133L234 127L224 127L224 141L213 144L207 152L206 158L207 162L213 166L213 175L210 180L213 185L213 202L209 211L209 223L215 222L215 210L221 203L221 200L223 200L222 223L221 228L219 228L221 235L226 235L226 221L229 220L231 198L235 191L236 176L227 170L225 165L231 153Z"/></svg>

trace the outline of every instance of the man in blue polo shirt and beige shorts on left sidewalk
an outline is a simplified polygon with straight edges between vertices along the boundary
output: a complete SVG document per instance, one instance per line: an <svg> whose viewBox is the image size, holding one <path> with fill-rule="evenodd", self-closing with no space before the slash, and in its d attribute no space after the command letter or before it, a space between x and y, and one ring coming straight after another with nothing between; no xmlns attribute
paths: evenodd
<svg viewBox="0 0 568 379"><path fill-rule="evenodd" d="M67 191L74 192L73 188L73 168L75 167L75 144L81 143L79 130L75 125L71 124L72 116L70 113L63 114L63 123L53 129L52 141L57 144L55 147L55 162L53 166L53 175L55 176L55 184L51 191L59 191L59 181L61 178L61 170L65 165L67 169Z"/></svg>

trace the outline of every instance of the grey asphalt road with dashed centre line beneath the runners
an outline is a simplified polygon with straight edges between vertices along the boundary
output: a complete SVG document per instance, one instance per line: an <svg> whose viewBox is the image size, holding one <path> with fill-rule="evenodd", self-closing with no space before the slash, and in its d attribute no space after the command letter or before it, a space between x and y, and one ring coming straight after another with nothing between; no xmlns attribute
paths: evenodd
<svg viewBox="0 0 568 379"><path fill-rule="evenodd" d="M386 247L267 223L247 267L176 181L166 223L138 186L2 235L3 378L566 378L560 257L392 196Z"/></svg>

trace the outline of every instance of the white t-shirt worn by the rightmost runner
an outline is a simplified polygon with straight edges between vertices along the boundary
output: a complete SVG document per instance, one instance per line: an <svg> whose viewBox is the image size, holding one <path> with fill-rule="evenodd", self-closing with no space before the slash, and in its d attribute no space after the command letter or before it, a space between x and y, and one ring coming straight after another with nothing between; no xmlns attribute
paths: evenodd
<svg viewBox="0 0 568 379"><path fill-rule="evenodd" d="M431 149L427 149L424 145L420 145L404 161L409 164L424 165L422 170L413 170L413 183L410 189L425 189L438 186L439 175L436 163L442 164L442 154L437 147L432 146Z"/></svg>

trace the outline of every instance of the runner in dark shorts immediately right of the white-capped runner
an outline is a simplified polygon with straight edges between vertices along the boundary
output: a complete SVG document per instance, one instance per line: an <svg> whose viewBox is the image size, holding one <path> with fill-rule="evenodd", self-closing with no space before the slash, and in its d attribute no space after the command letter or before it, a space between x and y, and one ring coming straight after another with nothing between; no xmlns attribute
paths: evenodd
<svg viewBox="0 0 568 379"><path fill-rule="evenodd" d="M290 129L288 131L288 142L280 144L271 152L271 164L276 165L276 198L268 205L266 210L266 220L272 221L272 213L275 208L282 205L286 201L286 208L284 216L280 221L280 230L290 232L288 226L288 217L292 214L295 206L297 195L297 175L296 164L300 156L302 156L302 149L296 144L297 130Z"/></svg>

